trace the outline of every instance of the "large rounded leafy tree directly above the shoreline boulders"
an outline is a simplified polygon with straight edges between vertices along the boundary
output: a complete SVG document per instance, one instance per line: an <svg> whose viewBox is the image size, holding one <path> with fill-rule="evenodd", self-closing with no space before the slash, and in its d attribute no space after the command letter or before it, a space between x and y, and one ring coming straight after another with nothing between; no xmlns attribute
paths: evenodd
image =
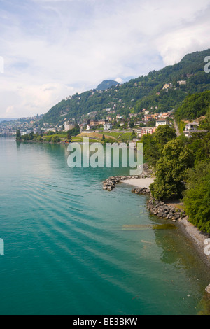
<svg viewBox="0 0 210 329"><path fill-rule="evenodd" d="M181 197L186 189L186 174L193 167L193 152L180 139L169 141L157 162L156 179L151 185L153 197L169 200Z"/></svg>

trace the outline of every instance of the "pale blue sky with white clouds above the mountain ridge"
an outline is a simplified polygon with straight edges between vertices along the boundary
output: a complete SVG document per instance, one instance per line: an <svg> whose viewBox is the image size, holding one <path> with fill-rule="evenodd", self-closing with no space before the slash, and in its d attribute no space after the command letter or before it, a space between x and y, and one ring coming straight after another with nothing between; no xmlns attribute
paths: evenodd
<svg viewBox="0 0 210 329"><path fill-rule="evenodd" d="M207 50L209 17L210 0L0 0L0 118Z"/></svg>

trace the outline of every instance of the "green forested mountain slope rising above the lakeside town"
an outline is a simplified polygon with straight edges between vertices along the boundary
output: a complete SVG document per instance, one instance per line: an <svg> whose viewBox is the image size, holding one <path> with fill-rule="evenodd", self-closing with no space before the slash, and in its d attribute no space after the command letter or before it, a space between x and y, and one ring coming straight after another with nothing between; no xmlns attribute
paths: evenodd
<svg viewBox="0 0 210 329"><path fill-rule="evenodd" d="M103 118L106 114L103 110L107 108L125 116L142 109L153 108L157 113L178 109L188 95L210 90L210 73L204 72L204 58L209 55L210 49L193 52L178 64L151 71L147 76L123 85L74 94L53 106L43 117L43 122L62 124L64 118L80 120L92 111L97 111L97 117Z"/></svg>

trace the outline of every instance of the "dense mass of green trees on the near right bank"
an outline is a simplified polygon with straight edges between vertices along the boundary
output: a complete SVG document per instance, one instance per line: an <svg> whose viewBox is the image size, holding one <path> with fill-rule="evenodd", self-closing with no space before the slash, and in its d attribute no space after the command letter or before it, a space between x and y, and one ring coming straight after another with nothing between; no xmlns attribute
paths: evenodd
<svg viewBox="0 0 210 329"><path fill-rule="evenodd" d="M190 97L192 109L206 101L208 109L200 131L190 138L183 134L176 137L174 128L165 125L153 135L144 135L142 142L148 164L155 167L153 197L182 200L189 221L210 234L210 99L207 101L204 95L207 93Z"/></svg>

